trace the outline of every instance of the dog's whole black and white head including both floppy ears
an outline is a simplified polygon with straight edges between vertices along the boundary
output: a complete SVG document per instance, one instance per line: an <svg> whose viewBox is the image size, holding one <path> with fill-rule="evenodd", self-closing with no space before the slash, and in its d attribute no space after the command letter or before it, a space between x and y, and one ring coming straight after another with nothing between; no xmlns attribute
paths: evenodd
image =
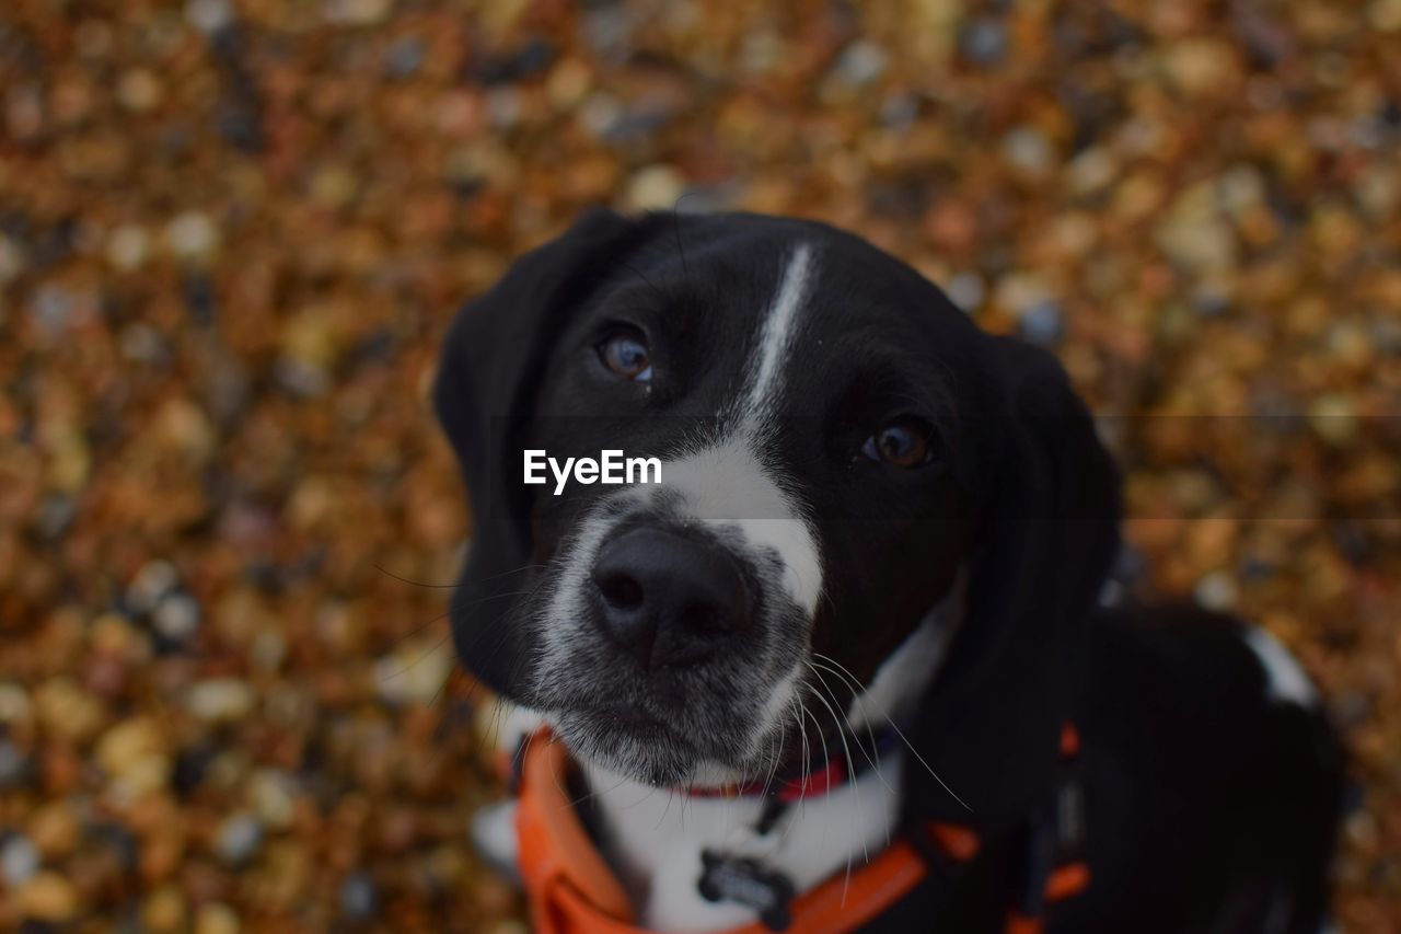
<svg viewBox="0 0 1401 934"><path fill-rule="evenodd" d="M1115 474L1055 360L906 265L810 222L595 212L462 310L434 398L474 510L458 652L576 753L762 777L801 705L835 728L880 693L930 816L926 769L995 820L1054 767ZM556 495L525 450L661 477ZM892 675L929 627L939 677Z"/></svg>

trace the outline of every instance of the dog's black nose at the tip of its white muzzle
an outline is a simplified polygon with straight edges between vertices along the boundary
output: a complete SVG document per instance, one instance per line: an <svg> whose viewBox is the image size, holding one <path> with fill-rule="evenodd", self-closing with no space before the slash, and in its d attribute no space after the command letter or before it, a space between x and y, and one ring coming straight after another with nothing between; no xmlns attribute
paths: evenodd
<svg viewBox="0 0 1401 934"><path fill-rule="evenodd" d="M715 638L750 628L750 589L719 544L630 529L594 562L602 628L643 668L691 665Z"/></svg>

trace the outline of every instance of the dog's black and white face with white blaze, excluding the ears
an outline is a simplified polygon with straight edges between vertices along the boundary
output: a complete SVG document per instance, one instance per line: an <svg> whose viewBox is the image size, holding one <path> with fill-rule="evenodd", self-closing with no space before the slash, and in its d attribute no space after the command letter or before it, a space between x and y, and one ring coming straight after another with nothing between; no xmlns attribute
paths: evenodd
<svg viewBox="0 0 1401 934"><path fill-rule="evenodd" d="M541 488L528 610L534 705L656 783L772 769L814 652L864 683L967 546L948 348L878 257L776 233L618 268L555 342L530 432L661 460L656 485Z"/></svg>

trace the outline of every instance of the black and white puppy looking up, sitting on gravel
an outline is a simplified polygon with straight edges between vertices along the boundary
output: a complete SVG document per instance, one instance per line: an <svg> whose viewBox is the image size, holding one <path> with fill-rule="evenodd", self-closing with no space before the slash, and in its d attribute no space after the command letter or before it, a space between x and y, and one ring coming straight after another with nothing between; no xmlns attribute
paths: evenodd
<svg viewBox="0 0 1401 934"><path fill-rule="evenodd" d="M950 822L974 865L862 930L1000 931L1066 722L1093 881L1049 930L1325 923L1341 754L1310 682L1262 630L1101 604L1089 414L906 265L811 222L590 213L462 310L434 401L474 510L458 654L576 756L643 926L754 920L702 896L702 854L803 892ZM661 482L523 482L525 450L605 449ZM775 832L762 795L677 801L891 729Z"/></svg>

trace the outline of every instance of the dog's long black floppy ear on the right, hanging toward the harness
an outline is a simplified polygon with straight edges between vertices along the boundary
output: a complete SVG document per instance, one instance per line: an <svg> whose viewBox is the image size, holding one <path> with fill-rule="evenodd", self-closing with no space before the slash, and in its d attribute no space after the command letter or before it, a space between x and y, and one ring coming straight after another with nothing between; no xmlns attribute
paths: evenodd
<svg viewBox="0 0 1401 934"><path fill-rule="evenodd" d="M1000 829L1042 805L1084 632L1118 551L1118 474L1049 353L992 338L991 402L971 429L991 447L965 614L911 742L915 819ZM927 809L927 812L925 812Z"/></svg>

